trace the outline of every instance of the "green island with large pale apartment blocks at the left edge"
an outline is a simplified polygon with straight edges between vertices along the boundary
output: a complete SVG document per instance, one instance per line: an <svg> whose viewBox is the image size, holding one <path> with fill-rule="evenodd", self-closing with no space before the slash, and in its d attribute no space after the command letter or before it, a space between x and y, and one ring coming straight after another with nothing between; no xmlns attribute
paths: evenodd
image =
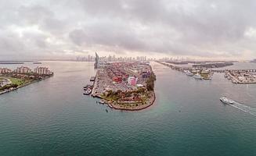
<svg viewBox="0 0 256 156"><path fill-rule="evenodd" d="M53 73L47 67L37 67L34 71L26 66L20 66L14 70L0 68L0 94L45 80L50 76L53 76Z"/></svg>

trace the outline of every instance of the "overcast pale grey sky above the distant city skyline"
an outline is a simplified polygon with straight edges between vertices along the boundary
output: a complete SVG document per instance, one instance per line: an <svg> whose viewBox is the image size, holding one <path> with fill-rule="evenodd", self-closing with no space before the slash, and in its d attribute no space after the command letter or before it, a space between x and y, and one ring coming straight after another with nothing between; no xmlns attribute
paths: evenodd
<svg viewBox="0 0 256 156"><path fill-rule="evenodd" d="M0 60L256 58L254 0L1 0Z"/></svg>

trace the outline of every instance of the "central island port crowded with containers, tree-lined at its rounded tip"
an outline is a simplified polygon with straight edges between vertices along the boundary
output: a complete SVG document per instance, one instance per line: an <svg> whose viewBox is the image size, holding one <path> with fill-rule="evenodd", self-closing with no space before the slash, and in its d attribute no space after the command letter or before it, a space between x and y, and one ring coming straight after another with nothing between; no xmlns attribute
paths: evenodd
<svg viewBox="0 0 256 156"><path fill-rule="evenodd" d="M156 76L149 62L100 62L92 96L110 108L139 111L155 101Z"/></svg>

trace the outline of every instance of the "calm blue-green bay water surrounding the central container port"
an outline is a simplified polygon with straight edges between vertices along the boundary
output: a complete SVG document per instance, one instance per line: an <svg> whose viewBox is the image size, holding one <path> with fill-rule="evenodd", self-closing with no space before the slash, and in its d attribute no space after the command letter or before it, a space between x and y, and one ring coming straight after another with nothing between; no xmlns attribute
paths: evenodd
<svg viewBox="0 0 256 156"><path fill-rule="evenodd" d="M42 66L55 76L0 96L0 155L256 155L256 117L218 100L225 95L256 108L256 85L222 74L194 80L152 62L155 104L106 113L82 95L95 74L92 62Z"/></svg>

